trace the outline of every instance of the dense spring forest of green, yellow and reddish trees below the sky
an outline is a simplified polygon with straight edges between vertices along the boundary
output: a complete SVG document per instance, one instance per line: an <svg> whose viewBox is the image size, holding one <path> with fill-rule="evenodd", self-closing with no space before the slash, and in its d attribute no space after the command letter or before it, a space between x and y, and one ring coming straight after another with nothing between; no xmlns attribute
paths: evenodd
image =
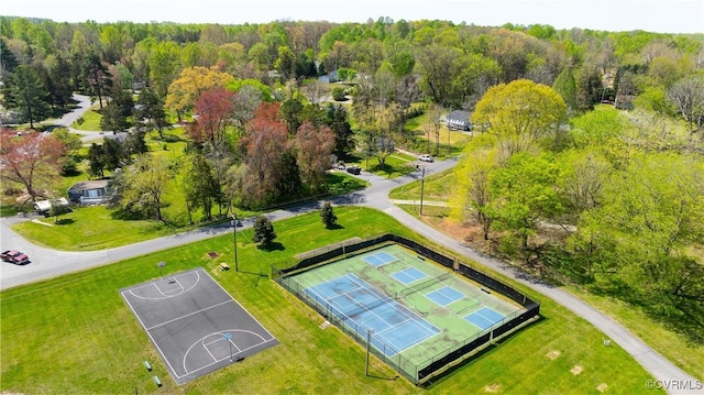
<svg viewBox="0 0 704 395"><path fill-rule="evenodd" d="M46 197L85 167L114 175L125 212L165 220L177 183L188 220L211 220L324 194L331 155L384 168L424 135L441 155L442 117L465 110L458 221L495 253L704 342L704 34L2 17L0 36L3 123L22 125L2 131L3 196ZM124 138L81 151L72 133L42 133L75 92ZM174 125L187 147L168 163L144 139Z"/></svg>

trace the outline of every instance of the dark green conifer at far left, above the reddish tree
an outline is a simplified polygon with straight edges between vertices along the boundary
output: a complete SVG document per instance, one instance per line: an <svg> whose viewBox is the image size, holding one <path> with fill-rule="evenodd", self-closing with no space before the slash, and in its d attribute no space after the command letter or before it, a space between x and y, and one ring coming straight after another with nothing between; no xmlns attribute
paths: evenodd
<svg viewBox="0 0 704 395"><path fill-rule="evenodd" d="M47 98L48 91L36 73L29 66L18 66L12 74L12 84L8 87L7 106L16 109L21 119L30 122L30 129L34 129L34 122L48 116Z"/></svg>

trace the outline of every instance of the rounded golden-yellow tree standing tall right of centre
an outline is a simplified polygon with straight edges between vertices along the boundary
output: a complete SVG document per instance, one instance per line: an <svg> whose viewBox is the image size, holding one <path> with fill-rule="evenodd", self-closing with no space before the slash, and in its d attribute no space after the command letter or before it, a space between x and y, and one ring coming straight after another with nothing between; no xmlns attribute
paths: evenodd
<svg viewBox="0 0 704 395"><path fill-rule="evenodd" d="M541 84L528 79L499 84L490 88L476 103L474 124L486 124L505 154L529 150L551 136L546 145L559 147L566 118L562 97Z"/></svg>

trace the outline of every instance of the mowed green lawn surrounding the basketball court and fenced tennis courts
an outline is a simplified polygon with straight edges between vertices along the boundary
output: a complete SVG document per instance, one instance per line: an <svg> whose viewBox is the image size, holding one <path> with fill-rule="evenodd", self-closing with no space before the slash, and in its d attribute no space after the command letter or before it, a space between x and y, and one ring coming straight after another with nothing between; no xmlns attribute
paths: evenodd
<svg viewBox="0 0 704 395"><path fill-rule="evenodd" d="M551 300L542 319L416 387L372 359L364 375L364 348L268 279L271 265L285 266L297 253L353 237L395 232L418 235L395 219L359 207L336 208L340 228L327 230L317 212L275 222L271 251L238 233L240 273L232 235L0 293L0 391L22 394L637 394L650 378L618 344ZM208 252L219 254L210 259ZM205 377L176 386L119 289L160 275L204 266L280 344ZM220 262L232 267L218 268ZM515 286L515 284L514 284ZM517 287L525 290L521 287ZM147 372L142 361L151 362ZM572 373L579 371L578 373ZM152 381L157 375L163 387ZM657 394L657 391L648 392Z"/></svg>

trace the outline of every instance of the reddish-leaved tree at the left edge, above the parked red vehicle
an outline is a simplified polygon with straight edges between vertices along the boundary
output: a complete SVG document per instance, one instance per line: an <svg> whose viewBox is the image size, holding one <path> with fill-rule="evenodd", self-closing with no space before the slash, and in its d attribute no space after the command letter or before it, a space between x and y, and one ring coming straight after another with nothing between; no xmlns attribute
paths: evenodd
<svg viewBox="0 0 704 395"><path fill-rule="evenodd" d="M58 179L65 154L64 144L42 133L18 136L10 129L0 131L0 176L3 182L24 186L30 199L36 200L43 188Z"/></svg>

